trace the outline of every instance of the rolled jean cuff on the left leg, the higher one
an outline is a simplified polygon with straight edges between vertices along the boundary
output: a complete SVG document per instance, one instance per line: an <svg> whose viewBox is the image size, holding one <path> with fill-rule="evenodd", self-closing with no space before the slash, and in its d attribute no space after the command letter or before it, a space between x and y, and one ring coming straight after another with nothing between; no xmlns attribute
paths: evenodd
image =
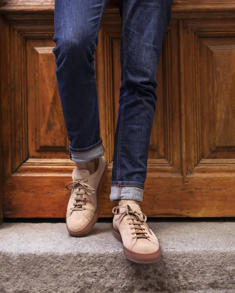
<svg viewBox="0 0 235 293"><path fill-rule="evenodd" d="M102 157L104 152L102 139L91 147L83 149L74 149L69 144L69 156L75 163L87 163L90 160Z"/></svg>

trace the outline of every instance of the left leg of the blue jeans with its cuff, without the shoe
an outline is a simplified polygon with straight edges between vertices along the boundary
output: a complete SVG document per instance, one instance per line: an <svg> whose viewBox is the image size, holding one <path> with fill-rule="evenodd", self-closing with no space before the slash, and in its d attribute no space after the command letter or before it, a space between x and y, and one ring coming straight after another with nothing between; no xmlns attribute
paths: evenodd
<svg viewBox="0 0 235 293"><path fill-rule="evenodd" d="M53 49L70 157L86 163L102 156L94 52L108 0L56 0Z"/></svg>

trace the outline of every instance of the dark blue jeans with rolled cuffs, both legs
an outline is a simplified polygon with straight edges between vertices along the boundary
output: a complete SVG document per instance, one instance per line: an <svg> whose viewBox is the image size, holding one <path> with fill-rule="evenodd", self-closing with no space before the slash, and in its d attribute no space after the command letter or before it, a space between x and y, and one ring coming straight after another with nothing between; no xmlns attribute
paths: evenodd
<svg viewBox="0 0 235 293"><path fill-rule="evenodd" d="M108 0L56 0L56 76L70 140L70 158L85 163L103 156L95 50ZM120 1L121 81L111 200L142 201L156 108L157 64L172 0Z"/></svg>

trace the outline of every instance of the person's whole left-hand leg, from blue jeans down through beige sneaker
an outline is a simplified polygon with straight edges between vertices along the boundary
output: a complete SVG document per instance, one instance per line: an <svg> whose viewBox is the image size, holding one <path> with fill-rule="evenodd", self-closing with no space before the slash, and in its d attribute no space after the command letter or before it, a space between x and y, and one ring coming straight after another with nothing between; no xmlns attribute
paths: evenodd
<svg viewBox="0 0 235 293"><path fill-rule="evenodd" d="M53 49L70 158L77 164L66 214L73 236L90 231L98 218L97 196L106 170L100 138L94 52L108 0L56 0Z"/></svg>

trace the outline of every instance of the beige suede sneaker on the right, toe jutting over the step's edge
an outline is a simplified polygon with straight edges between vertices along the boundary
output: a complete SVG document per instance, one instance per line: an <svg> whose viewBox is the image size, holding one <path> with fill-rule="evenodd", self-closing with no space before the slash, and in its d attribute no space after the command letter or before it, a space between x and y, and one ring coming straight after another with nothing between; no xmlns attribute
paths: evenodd
<svg viewBox="0 0 235 293"><path fill-rule="evenodd" d="M161 259L161 246L138 205L115 207L113 214L113 235L123 243L126 258L136 263L156 263Z"/></svg>

